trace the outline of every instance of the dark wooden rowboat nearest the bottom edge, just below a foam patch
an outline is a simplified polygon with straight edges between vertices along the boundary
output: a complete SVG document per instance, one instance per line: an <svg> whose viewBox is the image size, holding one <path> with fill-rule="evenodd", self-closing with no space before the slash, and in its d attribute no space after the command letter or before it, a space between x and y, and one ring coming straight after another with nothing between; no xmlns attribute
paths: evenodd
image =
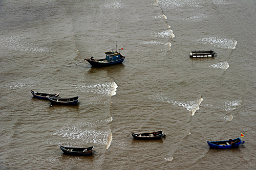
<svg viewBox="0 0 256 170"><path fill-rule="evenodd" d="M75 148L75 147L64 147L60 145L59 148L65 154L69 154L69 155L92 155L94 146L87 147L87 148Z"/></svg>

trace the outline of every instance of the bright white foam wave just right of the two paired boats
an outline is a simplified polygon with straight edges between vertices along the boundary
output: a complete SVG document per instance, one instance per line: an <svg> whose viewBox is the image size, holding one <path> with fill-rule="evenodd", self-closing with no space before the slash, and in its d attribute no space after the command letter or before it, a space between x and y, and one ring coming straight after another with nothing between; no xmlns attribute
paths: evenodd
<svg viewBox="0 0 256 170"><path fill-rule="evenodd" d="M76 89L81 92L93 92L93 93L98 93L98 94L103 94L108 96L116 95L116 90L118 87L115 82L96 84L96 85L87 85L87 86L83 86L83 85L68 85L68 86L76 87Z"/></svg>

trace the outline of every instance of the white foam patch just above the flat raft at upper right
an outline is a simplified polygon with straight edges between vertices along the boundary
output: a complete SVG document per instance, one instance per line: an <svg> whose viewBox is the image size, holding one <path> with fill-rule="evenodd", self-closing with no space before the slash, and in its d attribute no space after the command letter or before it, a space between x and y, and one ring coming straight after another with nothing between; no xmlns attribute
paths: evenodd
<svg viewBox="0 0 256 170"><path fill-rule="evenodd" d="M226 38L220 38L220 37L201 38L198 41L204 44L210 44L218 48L224 48L229 50L236 48L236 45L237 45L237 41L234 39L226 39Z"/></svg>

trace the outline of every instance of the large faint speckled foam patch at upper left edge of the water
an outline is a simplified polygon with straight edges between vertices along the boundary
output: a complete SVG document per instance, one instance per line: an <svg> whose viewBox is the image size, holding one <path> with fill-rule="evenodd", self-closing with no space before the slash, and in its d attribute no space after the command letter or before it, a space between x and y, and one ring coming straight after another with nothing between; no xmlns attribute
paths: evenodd
<svg viewBox="0 0 256 170"><path fill-rule="evenodd" d="M0 37L0 46L10 48L17 51L28 51L31 53L36 52L51 52L50 48L40 47L33 43L25 42L29 37L24 36L11 36L11 37Z"/></svg>

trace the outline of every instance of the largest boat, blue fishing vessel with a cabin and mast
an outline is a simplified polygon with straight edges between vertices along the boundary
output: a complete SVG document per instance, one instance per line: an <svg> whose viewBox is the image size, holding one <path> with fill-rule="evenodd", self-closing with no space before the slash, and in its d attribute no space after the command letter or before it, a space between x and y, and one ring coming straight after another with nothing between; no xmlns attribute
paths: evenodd
<svg viewBox="0 0 256 170"><path fill-rule="evenodd" d="M86 58L84 60L88 61L93 67L103 67L103 66L109 66L113 64L120 64L124 60L124 56L120 54L120 50L123 50L123 48L119 49L119 52L117 51L117 44L116 44L116 51L112 50L109 52L105 52L106 57L103 59L94 59L92 56L91 58Z"/></svg>

